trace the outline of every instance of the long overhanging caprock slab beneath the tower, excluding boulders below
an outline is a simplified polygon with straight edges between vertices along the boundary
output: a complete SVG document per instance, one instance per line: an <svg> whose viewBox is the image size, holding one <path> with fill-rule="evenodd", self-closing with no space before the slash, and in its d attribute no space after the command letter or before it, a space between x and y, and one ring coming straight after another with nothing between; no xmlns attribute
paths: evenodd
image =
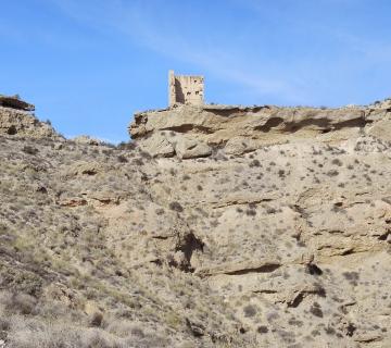
<svg viewBox="0 0 391 348"><path fill-rule="evenodd" d="M138 113L129 126L133 138L173 130L205 144L227 144L232 138L257 140L256 144L283 142L295 133L302 137L367 123L364 108L315 109L278 107L179 105L167 110Z"/></svg>

